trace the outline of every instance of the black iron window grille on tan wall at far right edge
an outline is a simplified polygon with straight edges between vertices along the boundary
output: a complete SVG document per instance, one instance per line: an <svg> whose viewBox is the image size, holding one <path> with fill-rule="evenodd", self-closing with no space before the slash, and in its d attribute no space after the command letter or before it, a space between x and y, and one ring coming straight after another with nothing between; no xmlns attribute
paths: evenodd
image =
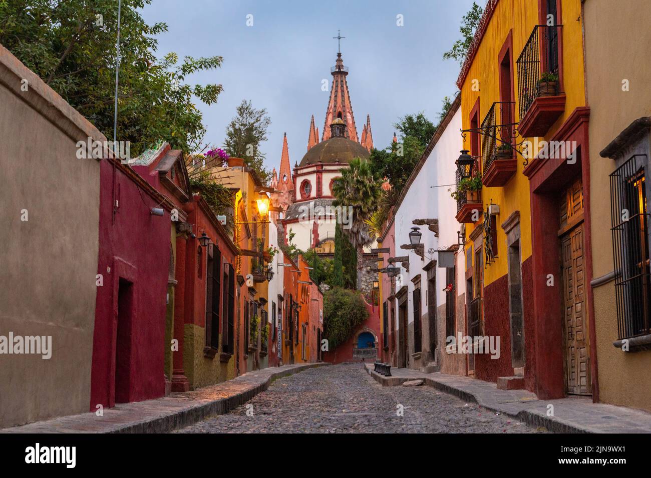
<svg viewBox="0 0 651 478"><path fill-rule="evenodd" d="M646 209L646 155L633 155L610 175L617 330L620 339L651 334Z"/></svg>

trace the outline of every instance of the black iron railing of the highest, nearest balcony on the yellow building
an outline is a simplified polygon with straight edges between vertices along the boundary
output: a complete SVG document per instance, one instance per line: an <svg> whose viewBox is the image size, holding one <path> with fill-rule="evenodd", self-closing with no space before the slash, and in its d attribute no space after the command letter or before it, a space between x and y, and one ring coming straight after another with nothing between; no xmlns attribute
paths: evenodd
<svg viewBox="0 0 651 478"><path fill-rule="evenodd" d="M559 74L559 36L562 25L536 25L518 58L518 105L520 119L538 97L543 73ZM558 85L558 82L557 82Z"/></svg>

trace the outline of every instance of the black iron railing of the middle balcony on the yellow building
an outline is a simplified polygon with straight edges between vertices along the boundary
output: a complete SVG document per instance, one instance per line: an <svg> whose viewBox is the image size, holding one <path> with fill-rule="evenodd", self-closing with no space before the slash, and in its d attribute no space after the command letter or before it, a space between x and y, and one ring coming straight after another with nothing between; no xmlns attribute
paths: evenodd
<svg viewBox="0 0 651 478"><path fill-rule="evenodd" d="M507 145L507 151L512 154L510 145L513 140L514 123L511 110L514 104L514 101L495 101L484 117L480 127L484 172L495 161L501 148L505 148L503 145Z"/></svg>

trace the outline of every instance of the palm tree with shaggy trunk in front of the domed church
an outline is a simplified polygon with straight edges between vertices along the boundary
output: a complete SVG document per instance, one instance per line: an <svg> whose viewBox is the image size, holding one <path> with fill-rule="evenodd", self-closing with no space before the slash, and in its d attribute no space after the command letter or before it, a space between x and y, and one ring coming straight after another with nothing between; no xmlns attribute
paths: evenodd
<svg viewBox="0 0 651 478"><path fill-rule="evenodd" d="M334 206L351 207L348 224L342 224L348 240L357 250L357 288L361 288L363 248L370 245L375 235L368 230L367 221L378 207L381 183L370 170L366 159L355 157L348 168L341 170L341 178L333 184Z"/></svg>

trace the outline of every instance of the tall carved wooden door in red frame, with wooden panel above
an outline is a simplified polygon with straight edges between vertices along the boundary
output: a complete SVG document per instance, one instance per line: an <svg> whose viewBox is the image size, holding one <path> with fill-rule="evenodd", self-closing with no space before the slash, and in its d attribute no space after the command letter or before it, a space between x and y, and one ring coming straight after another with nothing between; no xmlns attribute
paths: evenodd
<svg viewBox="0 0 651 478"><path fill-rule="evenodd" d="M567 393L590 395L592 386L585 304L582 193L581 182L576 181L564 196L566 206L561 205L561 227L563 222L566 225L566 231L561 235L564 368Z"/></svg>

